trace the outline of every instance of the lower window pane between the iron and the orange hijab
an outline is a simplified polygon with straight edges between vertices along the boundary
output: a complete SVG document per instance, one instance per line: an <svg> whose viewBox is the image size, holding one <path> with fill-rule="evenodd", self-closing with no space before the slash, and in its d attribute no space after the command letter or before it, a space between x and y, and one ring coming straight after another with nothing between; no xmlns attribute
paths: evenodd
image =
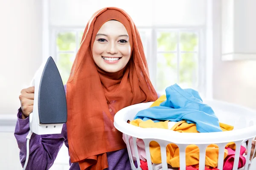
<svg viewBox="0 0 256 170"><path fill-rule="evenodd" d="M67 83L70 76L70 71L74 62L76 54L58 54L58 70L61 74L63 84Z"/></svg>

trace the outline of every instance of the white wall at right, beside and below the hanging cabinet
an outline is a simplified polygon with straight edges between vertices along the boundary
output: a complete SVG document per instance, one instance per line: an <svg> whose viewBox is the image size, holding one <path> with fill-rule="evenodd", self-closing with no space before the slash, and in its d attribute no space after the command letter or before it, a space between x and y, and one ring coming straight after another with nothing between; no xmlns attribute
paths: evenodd
<svg viewBox="0 0 256 170"><path fill-rule="evenodd" d="M221 61L221 0L212 1L213 98L256 109L256 61Z"/></svg>

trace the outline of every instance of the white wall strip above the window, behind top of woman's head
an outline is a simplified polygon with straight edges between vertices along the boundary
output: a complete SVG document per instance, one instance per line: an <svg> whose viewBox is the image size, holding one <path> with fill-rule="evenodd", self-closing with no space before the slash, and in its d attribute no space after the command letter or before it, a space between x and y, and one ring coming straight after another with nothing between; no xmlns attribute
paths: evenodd
<svg viewBox="0 0 256 170"><path fill-rule="evenodd" d="M51 0L50 24L84 27L94 12L114 6L124 9L137 27L202 26L206 3L206 0Z"/></svg>

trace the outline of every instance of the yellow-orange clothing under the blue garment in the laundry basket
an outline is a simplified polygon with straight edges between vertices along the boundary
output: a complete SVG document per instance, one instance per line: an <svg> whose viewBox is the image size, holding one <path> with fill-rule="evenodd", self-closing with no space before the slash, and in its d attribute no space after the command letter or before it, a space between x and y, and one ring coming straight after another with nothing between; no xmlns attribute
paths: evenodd
<svg viewBox="0 0 256 170"><path fill-rule="evenodd" d="M166 100L166 96L160 96L152 105L159 106L161 102ZM130 122L131 125L143 128L168 128L168 120L165 122L153 122L152 120L143 121L141 119L135 119ZM220 123L220 127L222 131L233 130L233 126L226 125L224 123ZM180 133L199 133L196 130L195 124L188 124L186 121L177 122L171 130ZM152 141L149 144L151 161L154 164L160 164L161 161L161 150L160 145ZM230 142L226 145L226 147L230 147L233 150L236 148L234 142ZM225 149L224 151L224 159L226 158L228 152ZM179 159L179 148L176 144L168 144L166 147L166 155L167 155L167 163L172 167L180 167L180 159ZM191 165L199 165L199 148L195 144L190 144L186 147L186 166ZM218 145L210 144L206 149L206 158L205 165L207 167L217 167L218 166Z"/></svg>

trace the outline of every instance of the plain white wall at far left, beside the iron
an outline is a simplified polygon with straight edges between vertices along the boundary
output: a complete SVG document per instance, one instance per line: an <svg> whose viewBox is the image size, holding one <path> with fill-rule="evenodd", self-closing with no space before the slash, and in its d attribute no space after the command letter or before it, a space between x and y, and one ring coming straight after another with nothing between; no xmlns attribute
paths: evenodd
<svg viewBox="0 0 256 170"><path fill-rule="evenodd" d="M41 63L40 0L1 0L0 114L15 114L22 88Z"/></svg>

